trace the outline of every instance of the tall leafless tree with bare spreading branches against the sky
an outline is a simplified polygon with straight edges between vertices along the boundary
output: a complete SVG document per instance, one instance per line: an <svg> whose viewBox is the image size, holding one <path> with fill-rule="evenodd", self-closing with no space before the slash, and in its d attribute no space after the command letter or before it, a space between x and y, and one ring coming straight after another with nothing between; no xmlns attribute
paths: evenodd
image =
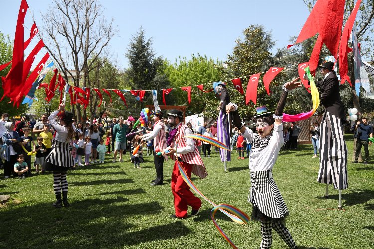
<svg viewBox="0 0 374 249"><path fill-rule="evenodd" d="M108 44L116 30L113 19L102 15L98 0L53 0L43 14L41 36L66 81L71 78L77 87L88 87L89 74L98 67L99 56L108 57ZM102 61L103 62L103 61ZM73 70L70 70L70 69ZM81 106L76 105L77 120ZM75 112L75 109L72 110ZM83 109L83 119L86 119Z"/></svg>

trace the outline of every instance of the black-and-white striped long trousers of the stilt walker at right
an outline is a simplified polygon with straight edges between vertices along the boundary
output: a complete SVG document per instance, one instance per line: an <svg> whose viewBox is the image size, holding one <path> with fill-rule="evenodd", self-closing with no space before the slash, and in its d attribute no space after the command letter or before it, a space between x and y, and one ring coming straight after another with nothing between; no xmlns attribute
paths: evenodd
<svg viewBox="0 0 374 249"><path fill-rule="evenodd" d="M335 189L348 188L347 146L339 117L325 112L320 127L320 170L318 182L334 184Z"/></svg>

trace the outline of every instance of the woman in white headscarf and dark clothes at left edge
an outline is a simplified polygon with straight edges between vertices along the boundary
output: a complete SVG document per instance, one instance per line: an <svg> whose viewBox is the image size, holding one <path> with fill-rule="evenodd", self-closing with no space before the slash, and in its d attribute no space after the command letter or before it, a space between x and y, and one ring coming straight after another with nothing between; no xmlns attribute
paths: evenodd
<svg viewBox="0 0 374 249"><path fill-rule="evenodd" d="M2 135L2 140L5 143L5 164L4 164L4 178L9 178L14 172L14 164L17 162L17 152L14 150L14 143L21 142L21 138L17 131L14 131L14 124L11 122L5 123L6 131Z"/></svg>

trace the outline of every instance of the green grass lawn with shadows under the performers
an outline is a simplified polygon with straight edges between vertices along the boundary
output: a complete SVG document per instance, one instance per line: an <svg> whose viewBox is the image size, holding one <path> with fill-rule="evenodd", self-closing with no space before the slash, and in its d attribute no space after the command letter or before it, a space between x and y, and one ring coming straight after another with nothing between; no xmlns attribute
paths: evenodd
<svg viewBox="0 0 374 249"><path fill-rule="evenodd" d="M290 211L287 227L299 248L364 249L374 245L374 146L371 164L352 164L352 135L348 184L342 193L344 210L338 210L338 191L317 183L318 159L311 145L282 151L274 167L274 179ZM248 215L250 187L248 159L236 153L224 173L219 155L203 158L208 176L195 185L215 203L227 203ZM202 200L198 216L171 219L174 214L170 190L173 161L164 163L163 186L150 186L155 177L153 157L145 156L142 169L134 169L126 155L123 163L84 166L68 172L70 208L55 209L52 174L33 174L24 180L3 180L0 194L12 199L0 206L0 248L136 248L223 249L229 244L210 219L211 206ZM33 168L33 171L35 169ZM190 210L189 210L190 212ZM217 222L239 248L255 249L261 243L260 224L232 222L217 212ZM273 232L273 247L287 248Z"/></svg>

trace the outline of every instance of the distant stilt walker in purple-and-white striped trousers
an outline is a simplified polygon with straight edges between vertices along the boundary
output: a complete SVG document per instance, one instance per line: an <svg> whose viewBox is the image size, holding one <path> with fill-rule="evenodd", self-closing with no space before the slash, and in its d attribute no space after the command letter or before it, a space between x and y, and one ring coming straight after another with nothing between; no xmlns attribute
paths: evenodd
<svg viewBox="0 0 374 249"><path fill-rule="evenodd" d="M231 141L230 141L230 125L229 117L226 113L226 105L230 103L230 95L226 89L226 82L219 82L218 84L219 92L219 115L218 115L218 126L217 126L217 137L218 141L226 145L230 150L219 149L219 154L221 156L221 162L223 162L225 167L225 172L227 172L227 162L231 161Z"/></svg>

